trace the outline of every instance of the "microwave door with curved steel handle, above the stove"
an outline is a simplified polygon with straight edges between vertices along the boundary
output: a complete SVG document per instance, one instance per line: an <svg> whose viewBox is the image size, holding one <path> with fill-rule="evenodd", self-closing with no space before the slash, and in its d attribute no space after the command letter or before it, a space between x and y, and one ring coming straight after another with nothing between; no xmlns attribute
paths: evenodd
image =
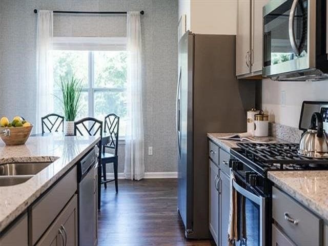
<svg viewBox="0 0 328 246"><path fill-rule="evenodd" d="M263 7L263 75L310 68L309 0L275 0Z"/></svg>

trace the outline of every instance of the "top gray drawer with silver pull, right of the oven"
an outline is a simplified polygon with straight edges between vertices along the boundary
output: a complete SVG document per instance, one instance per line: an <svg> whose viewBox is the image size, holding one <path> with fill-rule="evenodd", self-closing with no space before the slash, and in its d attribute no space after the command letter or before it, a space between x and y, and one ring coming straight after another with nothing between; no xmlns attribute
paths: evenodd
<svg viewBox="0 0 328 246"><path fill-rule="evenodd" d="M272 216L297 245L321 245L320 219L275 187L272 189ZM295 223L289 221L291 219Z"/></svg>

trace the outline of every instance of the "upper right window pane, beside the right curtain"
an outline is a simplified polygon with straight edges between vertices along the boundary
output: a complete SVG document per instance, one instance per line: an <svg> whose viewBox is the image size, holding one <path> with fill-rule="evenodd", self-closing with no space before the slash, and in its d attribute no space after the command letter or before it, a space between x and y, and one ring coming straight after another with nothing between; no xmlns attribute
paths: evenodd
<svg viewBox="0 0 328 246"><path fill-rule="evenodd" d="M94 51L95 87L125 88L127 82L126 51Z"/></svg>

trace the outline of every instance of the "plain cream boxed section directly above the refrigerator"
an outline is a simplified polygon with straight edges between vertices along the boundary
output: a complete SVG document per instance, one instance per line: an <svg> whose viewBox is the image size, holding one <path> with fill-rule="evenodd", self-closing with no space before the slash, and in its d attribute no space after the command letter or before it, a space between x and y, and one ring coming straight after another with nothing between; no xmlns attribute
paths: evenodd
<svg viewBox="0 0 328 246"><path fill-rule="evenodd" d="M193 33L235 35L237 1L179 0L179 19L186 15L186 29Z"/></svg>

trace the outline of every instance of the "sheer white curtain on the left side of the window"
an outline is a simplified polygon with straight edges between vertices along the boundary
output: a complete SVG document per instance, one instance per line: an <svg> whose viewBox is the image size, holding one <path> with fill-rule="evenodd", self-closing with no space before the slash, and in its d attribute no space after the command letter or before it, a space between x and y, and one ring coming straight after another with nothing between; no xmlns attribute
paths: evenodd
<svg viewBox="0 0 328 246"><path fill-rule="evenodd" d="M39 10L36 36L36 132L41 132L41 117L53 112L52 68L53 12Z"/></svg>

